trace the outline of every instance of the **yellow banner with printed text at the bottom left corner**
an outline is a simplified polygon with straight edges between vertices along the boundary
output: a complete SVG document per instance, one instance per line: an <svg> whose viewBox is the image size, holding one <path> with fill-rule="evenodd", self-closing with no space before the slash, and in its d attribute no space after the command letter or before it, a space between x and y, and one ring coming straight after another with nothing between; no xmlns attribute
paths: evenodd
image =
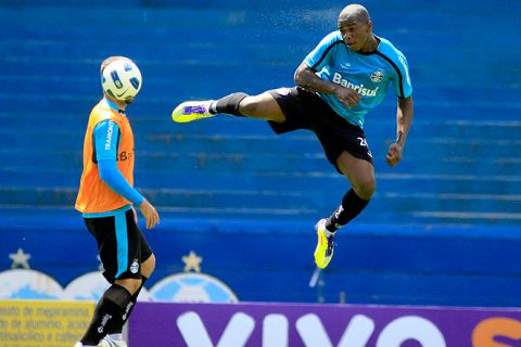
<svg viewBox="0 0 521 347"><path fill-rule="evenodd" d="M0 300L0 346L74 346L93 311L92 301Z"/></svg>

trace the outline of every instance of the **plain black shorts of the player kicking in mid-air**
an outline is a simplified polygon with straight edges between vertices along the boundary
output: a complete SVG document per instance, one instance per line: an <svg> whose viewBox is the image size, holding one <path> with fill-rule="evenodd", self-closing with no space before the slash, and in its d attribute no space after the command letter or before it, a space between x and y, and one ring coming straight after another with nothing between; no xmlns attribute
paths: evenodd
<svg viewBox="0 0 521 347"><path fill-rule="evenodd" d="M284 123L268 121L276 133L296 129L312 130L334 167L336 158L344 151L373 164L364 130L342 118L319 95L301 87L279 88L268 92L285 116Z"/></svg>

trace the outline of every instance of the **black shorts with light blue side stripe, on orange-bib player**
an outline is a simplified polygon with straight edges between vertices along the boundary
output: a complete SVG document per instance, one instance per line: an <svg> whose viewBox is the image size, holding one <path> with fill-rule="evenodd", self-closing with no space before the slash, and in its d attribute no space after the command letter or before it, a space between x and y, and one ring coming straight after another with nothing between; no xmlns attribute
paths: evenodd
<svg viewBox="0 0 521 347"><path fill-rule="evenodd" d="M152 249L136 224L132 210L84 220L98 243L105 279L110 283L116 279L141 279L141 264L149 259Z"/></svg>

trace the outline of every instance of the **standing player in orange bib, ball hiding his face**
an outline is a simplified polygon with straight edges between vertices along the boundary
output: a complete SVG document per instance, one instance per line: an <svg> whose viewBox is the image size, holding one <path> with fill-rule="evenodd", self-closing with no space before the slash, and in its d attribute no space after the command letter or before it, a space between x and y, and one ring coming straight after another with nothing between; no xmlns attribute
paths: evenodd
<svg viewBox="0 0 521 347"><path fill-rule="evenodd" d="M160 216L132 187L134 133L126 108L141 89L141 73L124 56L104 60L100 73L104 98L90 113L75 207L96 237L103 275L112 285L103 293L89 327L75 347L126 347L123 325L155 267L154 254L137 226L132 205L141 210L147 229L154 228Z"/></svg>

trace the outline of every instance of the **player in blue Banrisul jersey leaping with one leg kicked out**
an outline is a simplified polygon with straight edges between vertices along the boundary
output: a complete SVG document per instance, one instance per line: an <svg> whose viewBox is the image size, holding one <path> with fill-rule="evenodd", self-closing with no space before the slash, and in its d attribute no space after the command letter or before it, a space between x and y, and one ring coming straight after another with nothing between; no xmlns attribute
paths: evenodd
<svg viewBox="0 0 521 347"><path fill-rule="evenodd" d="M374 193L372 155L363 130L366 114L384 100L391 85L397 95L396 141L385 157L391 166L402 159L412 121L412 87L404 54L372 33L369 13L360 4L345 7L338 26L297 67L296 87L254 97L238 92L216 101L188 101L171 114L179 123L230 114L266 119L276 133L315 132L329 162L352 185L331 216L315 226L314 256L321 269L333 256L336 230L360 214Z"/></svg>

